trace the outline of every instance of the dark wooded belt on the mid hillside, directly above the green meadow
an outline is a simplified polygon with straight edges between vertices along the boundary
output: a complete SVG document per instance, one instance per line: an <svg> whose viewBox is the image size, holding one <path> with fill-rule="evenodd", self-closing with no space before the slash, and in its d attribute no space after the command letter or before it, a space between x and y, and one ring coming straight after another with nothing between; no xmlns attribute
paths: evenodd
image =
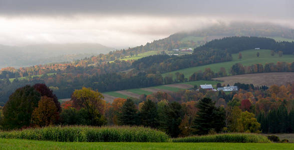
<svg viewBox="0 0 294 150"><path fill-rule="evenodd" d="M181 56L152 55L138 59L132 67L147 72L168 72L181 68L199 66L204 64L231 61L232 56L224 50L196 50L192 54Z"/></svg>

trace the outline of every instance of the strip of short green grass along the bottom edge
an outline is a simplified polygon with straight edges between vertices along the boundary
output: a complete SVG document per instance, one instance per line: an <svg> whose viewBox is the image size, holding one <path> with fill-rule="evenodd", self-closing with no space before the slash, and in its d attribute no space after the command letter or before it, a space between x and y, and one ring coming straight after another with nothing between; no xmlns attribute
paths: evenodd
<svg viewBox="0 0 294 150"><path fill-rule="evenodd" d="M0 149L293 149L293 143L55 142L0 138Z"/></svg>

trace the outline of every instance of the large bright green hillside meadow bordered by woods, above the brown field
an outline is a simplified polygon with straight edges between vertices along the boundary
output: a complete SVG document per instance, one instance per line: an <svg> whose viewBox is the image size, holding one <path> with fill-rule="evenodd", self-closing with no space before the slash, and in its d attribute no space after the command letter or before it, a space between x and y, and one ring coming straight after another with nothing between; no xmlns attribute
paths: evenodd
<svg viewBox="0 0 294 150"><path fill-rule="evenodd" d="M259 52L259 57L256 56L256 53ZM281 57L279 57L277 54L274 56L270 55L270 50L268 49L250 49L250 50L244 50L241 51L242 58L238 58L238 53L232 54L233 60L227 61L227 62L221 62L221 63L213 63L213 64L207 64L207 65L201 65L196 67L189 67L184 69L179 69L171 72L163 73L162 76L165 77L169 73L173 75L173 78L175 78L176 72L184 73L185 78L189 78L194 72L197 72L199 70L204 71L205 68L211 68L214 72L218 72L220 67L224 67L227 71L227 74L229 74L230 68L235 63L241 63L245 66L256 64L256 63L276 63L277 61L285 61L285 62L293 62L294 61L294 55L292 54L284 54Z"/></svg>

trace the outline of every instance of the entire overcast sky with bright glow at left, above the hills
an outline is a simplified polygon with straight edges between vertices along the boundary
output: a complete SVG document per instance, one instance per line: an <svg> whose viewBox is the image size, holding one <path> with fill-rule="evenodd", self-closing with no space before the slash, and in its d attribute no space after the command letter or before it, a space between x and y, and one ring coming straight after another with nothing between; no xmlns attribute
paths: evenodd
<svg viewBox="0 0 294 150"><path fill-rule="evenodd" d="M0 44L123 48L233 21L294 28L294 0L0 0Z"/></svg>

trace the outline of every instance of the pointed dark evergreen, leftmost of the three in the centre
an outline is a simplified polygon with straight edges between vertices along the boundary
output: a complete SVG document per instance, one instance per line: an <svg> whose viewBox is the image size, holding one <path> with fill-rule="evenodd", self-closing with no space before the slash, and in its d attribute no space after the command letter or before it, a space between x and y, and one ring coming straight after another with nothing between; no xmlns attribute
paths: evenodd
<svg viewBox="0 0 294 150"><path fill-rule="evenodd" d="M119 122L122 125L139 124L137 108L134 101L130 98L123 104L122 112L119 113Z"/></svg>

